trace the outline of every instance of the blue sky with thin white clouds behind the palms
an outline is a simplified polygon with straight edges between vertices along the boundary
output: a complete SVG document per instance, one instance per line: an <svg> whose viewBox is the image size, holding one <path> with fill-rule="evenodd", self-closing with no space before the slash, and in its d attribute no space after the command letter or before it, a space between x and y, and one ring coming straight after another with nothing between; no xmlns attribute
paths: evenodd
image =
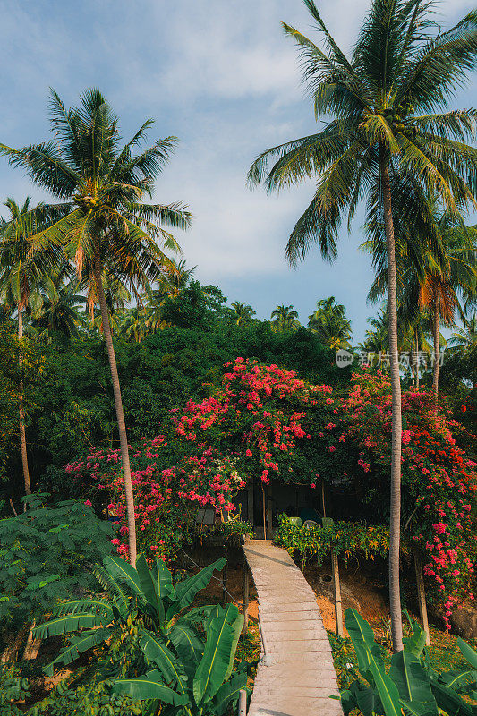
<svg viewBox="0 0 477 716"><path fill-rule="evenodd" d="M353 42L367 0L317 3L342 47ZM473 0L444 0L442 24ZM245 175L263 149L316 131L284 20L305 34L311 21L301 0L0 0L0 141L21 147L47 139L51 86L66 105L98 86L121 118L127 139L146 117L149 136L180 139L157 184L156 199L182 200L194 215L178 234L184 258L202 283L229 301L251 303L268 318L278 303L294 304L306 323L319 298L333 294L362 339L371 285L370 260L358 251L360 217L340 237L330 265L311 251L288 268L284 249L313 186L279 196L250 191ZM454 102L477 105L475 78ZM0 159L0 197L46 198Z"/></svg>

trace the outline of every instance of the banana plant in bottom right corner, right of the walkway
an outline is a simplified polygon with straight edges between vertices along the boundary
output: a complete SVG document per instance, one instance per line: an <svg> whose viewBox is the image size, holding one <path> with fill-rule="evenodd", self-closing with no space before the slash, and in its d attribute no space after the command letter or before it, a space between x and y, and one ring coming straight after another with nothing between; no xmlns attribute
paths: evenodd
<svg viewBox="0 0 477 716"><path fill-rule="evenodd" d="M359 709L363 716L477 716L477 707L461 694L476 699L477 652L457 640L471 669L438 674L424 655L426 634L410 620L413 634L404 650L393 654L387 673L371 626L354 609L346 609L345 624L353 642L362 680L341 692L345 716Z"/></svg>

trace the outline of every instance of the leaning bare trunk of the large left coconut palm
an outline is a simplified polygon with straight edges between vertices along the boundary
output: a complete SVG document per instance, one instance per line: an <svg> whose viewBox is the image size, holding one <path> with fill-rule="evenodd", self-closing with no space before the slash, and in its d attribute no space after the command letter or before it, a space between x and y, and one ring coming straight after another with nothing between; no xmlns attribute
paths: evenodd
<svg viewBox="0 0 477 716"><path fill-rule="evenodd" d="M121 460L123 464L124 493L126 497L126 515L128 524L128 542L129 542L129 561L132 567L136 565L136 520L134 517L134 495L132 493L131 466L129 463L129 447L126 433L126 423L124 422L123 400L121 398L121 387L119 385L119 376L117 374L117 365L115 357L115 346L113 345L113 337L111 336L111 324L109 323L109 313L106 306L106 295L103 288L103 280L101 278L101 264L99 260L95 261L93 275L98 291L99 307L101 309L101 320L103 322L103 335L106 341L107 357L109 359L109 367L111 369L111 380L113 383L113 394L115 396L115 409L117 417L117 428L119 430L119 444L121 447Z"/></svg>

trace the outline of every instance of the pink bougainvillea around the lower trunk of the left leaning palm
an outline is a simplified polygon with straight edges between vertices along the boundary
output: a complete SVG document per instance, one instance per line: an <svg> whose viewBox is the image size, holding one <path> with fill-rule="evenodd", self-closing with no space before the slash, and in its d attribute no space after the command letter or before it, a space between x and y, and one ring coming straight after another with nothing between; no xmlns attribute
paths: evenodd
<svg viewBox="0 0 477 716"><path fill-rule="evenodd" d="M131 449L132 488L134 490L138 551L164 559L174 558L195 523L200 507L217 512L231 511L236 490L244 482L234 465L212 447L197 455L184 455L179 465L170 465L170 450L163 436L142 439ZM109 516L117 534L112 540L117 552L128 555L124 480L119 450L92 447L84 460L66 465L66 473L75 481L92 479L105 493ZM90 505L90 500L86 501Z"/></svg>

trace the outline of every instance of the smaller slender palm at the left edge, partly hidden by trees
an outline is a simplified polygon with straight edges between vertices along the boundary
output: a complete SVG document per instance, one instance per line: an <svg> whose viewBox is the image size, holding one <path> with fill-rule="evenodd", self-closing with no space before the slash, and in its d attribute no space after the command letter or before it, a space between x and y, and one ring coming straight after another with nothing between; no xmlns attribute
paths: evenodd
<svg viewBox="0 0 477 716"><path fill-rule="evenodd" d="M23 311L28 305L30 293L39 285L47 271L55 265L58 252L55 247L50 251L31 251L31 236L37 233L39 226L42 226L40 222L47 221L48 212L44 205L38 204L32 209L31 199L27 197L21 206L11 198L4 202L4 206L8 209L9 217L2 220L0 224L0 292L4 295L4 303L7 306L16 307L18 339L21 349ZM21 394L22 390L21 384ZM22 399L20 401L19 431L23 482L25 493L30 495L30 469Z"/></svg>

